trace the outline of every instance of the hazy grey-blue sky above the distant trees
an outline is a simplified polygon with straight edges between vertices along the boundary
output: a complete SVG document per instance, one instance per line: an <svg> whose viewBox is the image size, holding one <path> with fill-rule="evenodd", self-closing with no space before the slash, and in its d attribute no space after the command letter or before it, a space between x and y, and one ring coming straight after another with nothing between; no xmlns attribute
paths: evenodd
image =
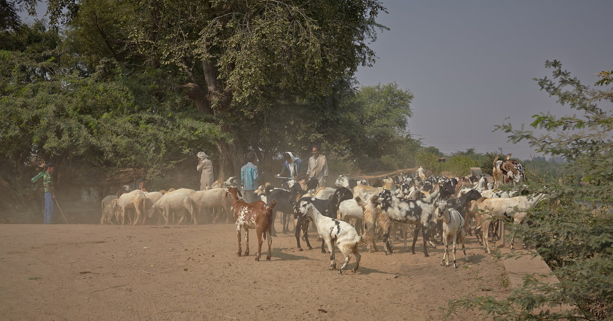
<svg viewBox="0 0 613 321"><path fill-rule="evenodd" d="M611 0L383 4L389 14L377 21L390 31L371 44L378 60L360 68L357 79L411 90L411 133L444 153L502 147L513 158L536 155L527 143L507 143L507 134L492 131L501 123L528 125L539 112L574 114L532 80L550 78L545 60L562 61L585 85L613 69Z"/></svg>

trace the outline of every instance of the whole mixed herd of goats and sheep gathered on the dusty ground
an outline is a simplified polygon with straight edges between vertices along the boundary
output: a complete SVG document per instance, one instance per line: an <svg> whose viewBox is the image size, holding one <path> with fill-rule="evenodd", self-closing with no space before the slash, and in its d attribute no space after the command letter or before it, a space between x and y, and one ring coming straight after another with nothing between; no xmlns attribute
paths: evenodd
<svg viewBox="0 0 613 321"><path fill-rule="evenodd" d="M498 219L511 219L515 224L525 224L528 209L547 197L545 193L520 195L519 190L500 190L501 184L517 186L525 179L522 165L510 159L493 161L493 183L485 176L475 177L435 177L425 175L421 166L413 174L398 174L394 177L377 180L354 180L341 175L335 187L319 188L317 180L307 184L307 190L289 180L283 188L265 184L256 190L260 199L246 203L242 198L243 189L235 177L226 182L215 182L207 190L195 191L188 188L169 191L148 192L143 186L137 190L109 195L102 200L101 224L218 222L226 215L237 228L238 256L249 255L249 229L256 230L258 249L256 261L261 258L262 243L268 242L267 260L270 260L272 239L276 236L275 217L281 214L283 233L289 232L289 222L293 218L297 247L302 250L300 236L313 249L308 241L308 227L313 222L322 239L321 250L330 253L330 269L336 269L335 246L345 256L339 269L343 273L352 256L356 259L356 272L359 268L360 244L366 244L369 252L376 251L375 234L383 235L383 249L392 253L390 246L397 226L405 238L408 226L413 228L411 251L415 253L417 234L422 231L424 255L428 257L427 244L441 237L445 253L441 265L449 266L449 246L452 245L452 263L455 268L456 243L462 244L466 257L464 239L472 234L471 222L475 221L474 234L485 252L490 253L488 239L498 238ZM242 252L241 230L245 229L246 250ZM514 236L511 241L513 249Z"/></svg>

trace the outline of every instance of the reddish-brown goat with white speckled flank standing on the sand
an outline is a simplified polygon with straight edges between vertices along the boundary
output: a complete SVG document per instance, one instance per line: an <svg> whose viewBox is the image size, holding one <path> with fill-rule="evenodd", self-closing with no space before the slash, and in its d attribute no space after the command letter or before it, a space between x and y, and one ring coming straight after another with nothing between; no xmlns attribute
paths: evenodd
<svg viewBox="0 0 613 321"><path fill-rule="evenodd" d="M266 206L266 203L262 201L255 201L253 203L245 203L238 198L242 197L238 188L231 187L227 191L232 198L232 205L234 206L234 222L236 223L236 231L238 236L238 253L240 257L242 249L240 247L240 229L245 229L245 253L246 257L249 255L249 229L256 230L257 235L257 255L256 261L260 260L262 256L262 239L268 238L268 256L267 261L270 261L272 252L272 238L270 237L273 222L273 207L275 207L276 201L272 201L270 206Z"/></svg>

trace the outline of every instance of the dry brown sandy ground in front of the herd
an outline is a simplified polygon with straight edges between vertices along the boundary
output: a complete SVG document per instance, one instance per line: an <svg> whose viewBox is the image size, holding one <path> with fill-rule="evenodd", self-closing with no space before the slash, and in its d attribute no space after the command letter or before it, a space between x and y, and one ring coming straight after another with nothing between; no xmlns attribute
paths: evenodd
<svg viewBox="0 0 613 321"><path fill-rule="evenodd" d="M398 243L387 256L362 250L359 272L339 275L293 234L255 261L250 235L251 255L237 257L231 224L0 225L0 320L440 320L448 300L509 292L474 236L458 269L440 266L442 246L424 257L419 238L415 255Z"/></svg>

